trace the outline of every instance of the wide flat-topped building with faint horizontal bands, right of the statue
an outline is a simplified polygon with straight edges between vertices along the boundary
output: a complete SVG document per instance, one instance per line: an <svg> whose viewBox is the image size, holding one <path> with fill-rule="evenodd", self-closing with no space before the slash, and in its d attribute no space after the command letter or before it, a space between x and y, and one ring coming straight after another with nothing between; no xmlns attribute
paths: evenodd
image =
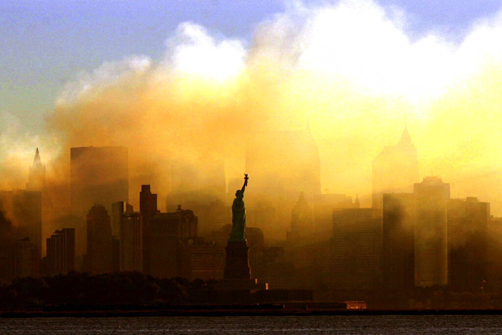
<svg viewBox="0 0 502 335"><path fill-rule="evenodd" d="M337 290L373 289L380 277L380 220L371 208L333 211L329 273Z"/></svg>

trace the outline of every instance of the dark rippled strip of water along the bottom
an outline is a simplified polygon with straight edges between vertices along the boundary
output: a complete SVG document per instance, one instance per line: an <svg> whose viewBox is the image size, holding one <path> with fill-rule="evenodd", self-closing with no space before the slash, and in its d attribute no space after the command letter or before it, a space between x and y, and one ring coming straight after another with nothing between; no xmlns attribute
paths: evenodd
<svg viewBox="0 0 502 335"><path fill-rule="evenodd" d="M0 319L1 334L502 334L499 315L48 317Z"/></svg>

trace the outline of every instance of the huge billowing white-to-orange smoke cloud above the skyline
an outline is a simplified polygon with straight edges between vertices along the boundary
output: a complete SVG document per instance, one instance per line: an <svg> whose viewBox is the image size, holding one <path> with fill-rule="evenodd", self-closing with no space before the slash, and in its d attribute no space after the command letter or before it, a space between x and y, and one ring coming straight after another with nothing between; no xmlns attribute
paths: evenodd
<svg viewBox="0 0 502 335"><path fill-rule="evenodd" d="M204 162L221 159L227 179L240 177L249 141L308 120L322 191L369 195L372 159L407 125L421 177L438 175L452 197L478 196L501 215L502 12L460 41L412 36L408 20L365 0L295 3L257 25L250 43L182 23L161 59L124 55L75 73L39 135L3 115L0 188L24 188L37 146L48 183L64 184L70 147L120 145L137 205L138 185L167 194L172 160L203 173Z"/></svg>

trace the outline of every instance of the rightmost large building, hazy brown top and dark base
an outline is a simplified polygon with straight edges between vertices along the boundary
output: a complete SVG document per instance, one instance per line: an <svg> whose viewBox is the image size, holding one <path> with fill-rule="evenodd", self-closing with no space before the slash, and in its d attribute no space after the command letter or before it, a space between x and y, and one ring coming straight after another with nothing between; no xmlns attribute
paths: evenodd
<svg viewBox="0 0 502 335"><path fill-rule="evenodd" d="M448 282L454 291L479 293L487 280L489 215L490 204L475 197L448 202Z"/></svg>

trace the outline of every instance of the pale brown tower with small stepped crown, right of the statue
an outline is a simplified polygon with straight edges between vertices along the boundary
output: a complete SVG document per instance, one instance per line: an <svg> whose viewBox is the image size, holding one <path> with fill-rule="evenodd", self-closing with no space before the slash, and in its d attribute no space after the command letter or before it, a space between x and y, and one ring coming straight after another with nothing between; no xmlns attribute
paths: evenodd
<svg viewBox="0 0 502 335"><path fill-rule="evenodd" d="M450 184L426 177L414 193L415 286L447 285Z"/></svg>

